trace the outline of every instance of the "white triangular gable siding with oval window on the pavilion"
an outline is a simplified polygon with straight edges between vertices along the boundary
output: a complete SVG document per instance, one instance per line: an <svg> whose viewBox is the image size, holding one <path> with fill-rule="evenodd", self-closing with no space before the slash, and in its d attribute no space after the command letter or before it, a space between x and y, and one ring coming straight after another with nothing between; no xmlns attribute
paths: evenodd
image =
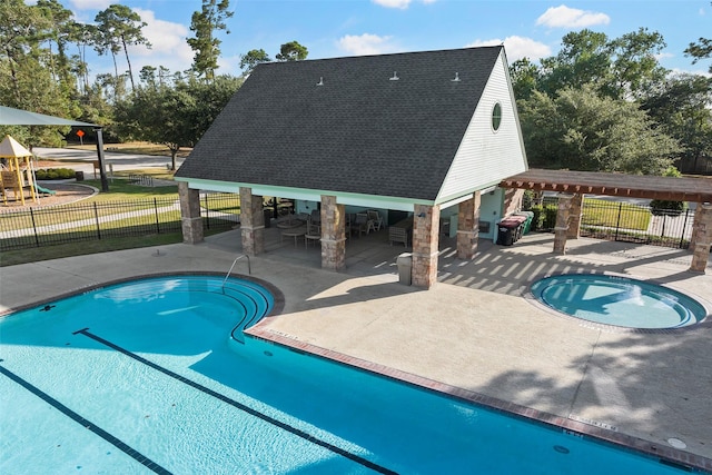
<svg viewBox="0 0 712 475"><path fill-rule="evenodd" d="M524 145L506 68L506 61L500 55L441 187L438 202L486 188L526 170ZM492 109L496 102L502 106L502 125L495 132L492 129Z"/></svg>

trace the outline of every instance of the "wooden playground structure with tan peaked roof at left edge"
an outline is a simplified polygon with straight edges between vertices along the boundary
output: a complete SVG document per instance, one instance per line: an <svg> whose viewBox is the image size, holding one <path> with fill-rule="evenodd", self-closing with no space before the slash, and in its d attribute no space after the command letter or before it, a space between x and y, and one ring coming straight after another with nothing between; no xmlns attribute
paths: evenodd
<svg viewBox="0 0 712 475"><path fill-rule="evenodd" d="M12 137L6 136L0 144L0 159L3 161L0 171L0 192L2 192L3 204L8 205L8 191L11 190L14 200L19 199L24 206L24 188L30 190L32 201L39 202L32 152ZM23 159L23 167L20 165L20 159Z"/></svg>

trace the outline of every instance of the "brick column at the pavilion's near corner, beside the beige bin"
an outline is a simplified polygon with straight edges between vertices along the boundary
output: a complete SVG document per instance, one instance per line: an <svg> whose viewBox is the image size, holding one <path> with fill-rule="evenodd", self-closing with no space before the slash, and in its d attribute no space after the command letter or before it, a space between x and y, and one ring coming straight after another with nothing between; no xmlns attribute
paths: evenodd
<svg viewBox="0 0 712 475"><path fill-rule="evenodd" d="M431 288L437 281L441 208L415 205L414 211L412 280L416 287Z"/></svg>

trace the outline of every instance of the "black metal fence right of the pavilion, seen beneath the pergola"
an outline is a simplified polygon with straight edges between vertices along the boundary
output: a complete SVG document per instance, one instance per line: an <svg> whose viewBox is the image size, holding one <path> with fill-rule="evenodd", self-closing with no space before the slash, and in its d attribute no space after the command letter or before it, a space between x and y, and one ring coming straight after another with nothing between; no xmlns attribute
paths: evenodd
<svg viewBox="0 0 712 475"><path fill-rule="evenodd" d="M535 212L534 229L551 230L556 224L556 197L544 197ZM653 212L654 211L654 212ZM686 249L692 237L694 210L653 210L640 201L613 201L585 197L581 236Z"/></svg>

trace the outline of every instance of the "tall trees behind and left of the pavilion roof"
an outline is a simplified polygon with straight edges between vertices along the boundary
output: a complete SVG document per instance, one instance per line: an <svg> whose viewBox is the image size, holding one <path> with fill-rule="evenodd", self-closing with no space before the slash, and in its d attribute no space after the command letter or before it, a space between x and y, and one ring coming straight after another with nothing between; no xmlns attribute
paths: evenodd
<svg viewBox="0 0 712 475"><path fill-rule="evenodd" d="M59 0L0 2L0 103L33 112L102 126L105 140L147 140L165 145L172 155L192 147L259 62L271 61L264 50L243 55L244 75L217 75L218 32L234 14L229 0L202 0L191 16L187 43L194 60L184 71L146 66L135 72L129 47L151 44L140 16L110 4L93 23L75 20ZM112 73L90 81L87 50L110 56ZM306 59L297 41L284 43L277 61ZM125 66L123 66L125 65ZM122 71L122 69L126 70ZM61 146L68 127L0 127L28 145ZM87 132L91 135L90 131Z"/></svg>

